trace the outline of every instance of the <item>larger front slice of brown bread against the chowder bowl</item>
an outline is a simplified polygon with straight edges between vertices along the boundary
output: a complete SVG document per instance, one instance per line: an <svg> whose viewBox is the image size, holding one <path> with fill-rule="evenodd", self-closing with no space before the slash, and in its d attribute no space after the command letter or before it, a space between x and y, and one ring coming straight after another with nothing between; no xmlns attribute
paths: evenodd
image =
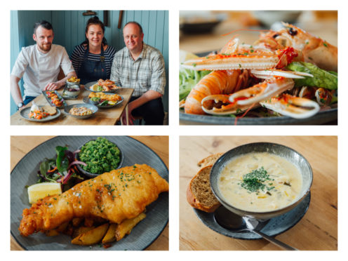
<svg viewBox="0 0 348 261"><path fill-rule="evenodd" d="M212 166L201 168L189 182L186 192L187 202L191 206L208 213L214 212L220 206L220 202L217 201L210 188L211 168Z"/></svg>

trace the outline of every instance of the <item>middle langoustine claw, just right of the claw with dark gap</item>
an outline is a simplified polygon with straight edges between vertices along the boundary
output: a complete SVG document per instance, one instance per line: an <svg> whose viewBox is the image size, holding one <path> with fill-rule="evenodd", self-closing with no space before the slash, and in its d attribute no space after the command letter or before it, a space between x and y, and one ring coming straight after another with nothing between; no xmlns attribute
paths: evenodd
<svg viewBox="0 0 348 261"><path fill-rule="evenodd" d="M236 102L241 106L253 105L290 90L294 84L292 79L276 76L253 87L233 93L229 96L229 102Z"/></svg>

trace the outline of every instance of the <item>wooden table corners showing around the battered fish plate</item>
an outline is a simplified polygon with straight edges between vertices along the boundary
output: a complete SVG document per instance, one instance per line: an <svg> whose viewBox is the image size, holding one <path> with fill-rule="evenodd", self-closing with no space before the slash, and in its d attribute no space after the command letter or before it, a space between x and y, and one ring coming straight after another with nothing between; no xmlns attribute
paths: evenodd
<svg viewBox="0 0 348 261"><path fill-rule="evenodd" d="M168 168L168 136L131 136L138 140L154 152L162 159ZM42 142L53 138L53 136L11 136L11 170L22 159L25 154L34 149ZM146 250L168 250L168 225L166 225L159 237L146 248ZM11 236L11 250L23 250Z"/></svg>

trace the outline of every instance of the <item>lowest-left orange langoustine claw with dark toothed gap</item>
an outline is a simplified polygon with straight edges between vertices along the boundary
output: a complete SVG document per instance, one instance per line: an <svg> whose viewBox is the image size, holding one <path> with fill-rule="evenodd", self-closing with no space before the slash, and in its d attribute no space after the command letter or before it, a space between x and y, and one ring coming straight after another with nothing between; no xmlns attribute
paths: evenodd
<svg viewBox="0 0 348 261"><path fill-rule="evenodd" d="M240 106L236 102L229 102L229 95L222 94L203 98L201 105L204 112L213 115L238 114L250 108L250 105Z"/></svg>

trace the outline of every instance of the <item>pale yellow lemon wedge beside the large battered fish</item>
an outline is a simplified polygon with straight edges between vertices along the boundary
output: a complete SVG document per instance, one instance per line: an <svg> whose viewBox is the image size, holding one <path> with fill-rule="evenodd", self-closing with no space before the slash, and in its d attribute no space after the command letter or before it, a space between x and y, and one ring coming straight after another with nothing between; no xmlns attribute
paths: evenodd
<svg viewBox="0 0 348 261"><path fill-rule="evenodd" d="M60 183L43 182L34 184L28 187L29 203L36 203L39 199L43 199L45 196L62 194L62 187Z"/></svg>

